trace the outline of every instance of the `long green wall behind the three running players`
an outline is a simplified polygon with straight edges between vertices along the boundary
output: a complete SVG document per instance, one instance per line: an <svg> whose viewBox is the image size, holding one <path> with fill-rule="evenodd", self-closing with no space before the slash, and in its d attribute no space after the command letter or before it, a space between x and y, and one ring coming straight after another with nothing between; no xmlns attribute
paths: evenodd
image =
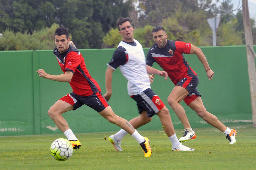
<svg viewBox="0 0 256 170"><path fill-rule="evenodd" d="M203 65L196 55L185 54L191 68L199 77L199 92L205 108L225 125L252 123L251 100L245 46L201 47L214 71L208 81ZM102 93L105 91L105 71L115 49L82 49L86 67ZM144 49L145 55L148 48ZM44 69L48 74L62 74L52 50L48 51L0 51L0 136L62 133L49 118L48 109L62 96L71 93L69 83L51 81L39 77L36 71ZM161 69L156 63L153 67ZM152 89L170 110L175 128L183 125L167 103L174 85L170 79L155 76ZM113 73L113 94L109 101L113 111L130 120L138 116L137 106L127 94L127 80L119 69ZM203 119L182 101L193 128L208 127ZM82 106L63 114L75 133L117 131L119 127L109 123L96 111ZM158 116L140 129L161 129Z"/></svg>

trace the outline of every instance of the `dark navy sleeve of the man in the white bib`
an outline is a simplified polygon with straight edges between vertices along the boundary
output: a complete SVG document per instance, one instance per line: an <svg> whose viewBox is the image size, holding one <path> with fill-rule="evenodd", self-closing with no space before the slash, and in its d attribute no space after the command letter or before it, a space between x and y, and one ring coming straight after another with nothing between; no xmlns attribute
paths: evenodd
<svg viewBox="0 0 256 170"><path fill-rule="evenodd" d="M116 70L118 66L123 66L127 62L125 54L125 48L119 46L113 53L111 61L107 64L113 70Z"/></svg>

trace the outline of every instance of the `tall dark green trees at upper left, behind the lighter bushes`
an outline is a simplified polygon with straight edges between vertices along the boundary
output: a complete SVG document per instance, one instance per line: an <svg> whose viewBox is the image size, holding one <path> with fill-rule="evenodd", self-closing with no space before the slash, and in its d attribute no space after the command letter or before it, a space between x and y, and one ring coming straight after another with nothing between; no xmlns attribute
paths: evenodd
<svg viewBox="0 0 256 170"><path fill-rule="evenodd" d="M104 34L128 11L123 0L0 0L0 32L32 35L56 23L69 28L77 48L101 48Z"/></svg>

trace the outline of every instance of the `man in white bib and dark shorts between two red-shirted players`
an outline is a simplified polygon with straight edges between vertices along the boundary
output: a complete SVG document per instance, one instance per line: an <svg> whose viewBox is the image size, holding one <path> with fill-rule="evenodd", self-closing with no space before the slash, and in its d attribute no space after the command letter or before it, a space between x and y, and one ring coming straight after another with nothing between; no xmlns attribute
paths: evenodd
<svg viewBox="0 0 256 170"><path fill-rule="evenodd" d="M119 67L124 77L128 80L128 94L137 102L140 114L138 117L131 119L129 123L137 129L150 122L152 116L157 114L164 127L164 131L172 143L172 150L193 151L194 149L184 146L178 141L168 108L166 108L159 96L150 87L149 73L163 76L165 80L168 74L165 71L160 71L146 65L142 45L136 39L133 39L133 27L129 18L119 18L117 26L123 41L119 43L111 61L107 64L106 94L104 97L107 101L110 99L112 95L112 74ZM125 135L127 135L127 132L121 129L109 137L109 141L113 144L115 150L122 151L120 141ZM147 142L149 143L148 139L145 138L145 156L149 150L151 152L151 148L147 148Z"/></svg>

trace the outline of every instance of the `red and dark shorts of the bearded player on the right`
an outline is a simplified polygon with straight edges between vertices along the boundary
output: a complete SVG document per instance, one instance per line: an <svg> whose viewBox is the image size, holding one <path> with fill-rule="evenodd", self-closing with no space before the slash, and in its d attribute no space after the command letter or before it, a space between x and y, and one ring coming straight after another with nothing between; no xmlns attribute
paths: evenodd
<svg viewBox="0 0 256 170"><path fill-rule="evenodd" d="M187 105L193 102L198 96L201 97L199 91L197 90L198 84L199 84L199 79L197 75L193 77L185 77L176 84L176 86L184 87L189 92L189 95L187 95L183 99Z"/></svg>

